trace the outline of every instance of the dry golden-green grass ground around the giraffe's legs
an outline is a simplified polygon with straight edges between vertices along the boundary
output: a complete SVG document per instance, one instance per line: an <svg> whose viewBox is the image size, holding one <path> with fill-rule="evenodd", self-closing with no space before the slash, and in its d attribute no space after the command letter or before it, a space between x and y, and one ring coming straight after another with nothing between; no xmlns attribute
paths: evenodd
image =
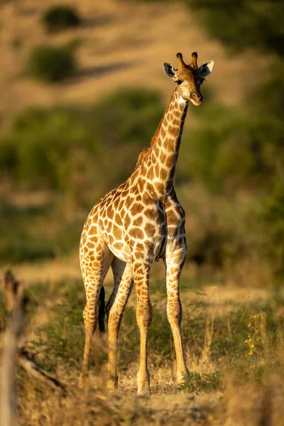
<svg viewBox="0 0 284 426"><path fill-rule="evenodd" d="M119 338L119 389L108 393L107 337L94 337L89 381L77 389L84 330L84 289L80 280L30 283L27 348L46 370L69 383L66 396L18 368L21 425L280 425L283 416L283 293L210 285L196 286L187 268L181 282L183 334L192 371L175 384L175 356L165 314L160 268L151 283L154 307L149 334L149 398L136 395L138 329L131 295ZM107 283L107 294L111 283ZM4 300L1 307L4 307ZM264 312L264 322L251 317ZM2 323L4 321L2 320ZM262 324L262 325L261 325ZM3 327L2 327L3 328ZM248 355L249 333L256 351Z"/></svg>

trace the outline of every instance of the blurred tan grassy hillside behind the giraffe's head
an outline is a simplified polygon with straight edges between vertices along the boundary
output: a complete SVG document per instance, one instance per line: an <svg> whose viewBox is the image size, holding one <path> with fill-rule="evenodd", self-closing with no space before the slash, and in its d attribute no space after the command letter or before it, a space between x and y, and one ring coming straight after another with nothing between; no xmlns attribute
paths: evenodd
<svg viewBox="0 0 284 426"><path fill-rule="evenodd" d="M249 51L226 55L211 40L190 11L179 2L61 0L74 6L82 24L59 33L46 31L43 15L58 1L7 1L0 5L0 116L1 128L27 107L96 102L119 87L148 87L170 97L172 87L163 75L163 62L185 60L197 50L200 61L216 61L212 87L216 97L236 104L253 89L266 69L266 58ZM31 50L38 45L60 46L76 41L77 75L67 84L41 84L27 74ZM253 79L244 78L253 62ZM224 78L226 76L226 78Z"/></svg>

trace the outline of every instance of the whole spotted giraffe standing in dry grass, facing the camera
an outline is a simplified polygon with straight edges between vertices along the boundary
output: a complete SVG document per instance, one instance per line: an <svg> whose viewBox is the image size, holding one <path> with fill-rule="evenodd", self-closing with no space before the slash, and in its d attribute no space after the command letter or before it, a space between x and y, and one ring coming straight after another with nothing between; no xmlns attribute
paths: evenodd
<svg viewBox="0 0 284 426"><path fill-rule="evenodd" d="M119 327L124 307L135 285L136 321L140 332L138 393L150 392L147 340L153 310L148 283L151 266L160 258L165 264L167 315L175 344L178 382L189 373L182 347L179 294L179 278L186 256L185 211L175 195L173 178L188 104L202 104L200 85L212 72L214 61L198 67L195 52L192 53L190 65L185 64L181 53L177 54L177 58L177 69L168 62L163 64L165 75L176 82L175 91L151 146L139 155L129 179L99 200L84 223L80 266L87 302L83 312L85 344L80 386L87 374L92 334L98 320L99 328L104 329L102 285L111 267L114 288L105 308L109 343L107 387L111 389L117 384L116 344Z"/></svg>

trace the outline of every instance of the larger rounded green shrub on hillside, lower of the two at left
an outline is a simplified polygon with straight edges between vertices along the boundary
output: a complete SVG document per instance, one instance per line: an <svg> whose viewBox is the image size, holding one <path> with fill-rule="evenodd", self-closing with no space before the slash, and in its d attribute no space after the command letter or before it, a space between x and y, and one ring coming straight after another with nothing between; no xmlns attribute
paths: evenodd
<svg viewBox="0 0 284 426"><path fill-rule="evenodd" d="M76 70L73 46L42 45L31 50L28 73L38 80L48 83L61 82L75 75Z"/></svg>

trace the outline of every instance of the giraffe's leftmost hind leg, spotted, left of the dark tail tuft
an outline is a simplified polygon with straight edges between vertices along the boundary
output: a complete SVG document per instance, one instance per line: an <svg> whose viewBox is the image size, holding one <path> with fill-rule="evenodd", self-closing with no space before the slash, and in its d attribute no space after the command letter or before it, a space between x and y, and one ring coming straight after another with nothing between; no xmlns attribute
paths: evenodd
<svg viewBox="0 0 284 426"><path fill-rule="evenodd" d="M91 259L94 258L94 261ZM81 256L81 269L84 280L84 287L86 291L86 305L84 307L84 330L85 330L85 343L84 343L84 356L82 363L82 372L79 378L79 386L82 386L85 376L87 376L89 364L89 350L91 346L92 335L97 328L99 318L99 327L102 327L103 313L102 308L99 312L99 295L102 290L102 283L107 275L109 266L114 258L114 255L109 251L107 244L104 243L102 238L97 239L97 243L92 250L87 253L82 251Z"/></svg>

